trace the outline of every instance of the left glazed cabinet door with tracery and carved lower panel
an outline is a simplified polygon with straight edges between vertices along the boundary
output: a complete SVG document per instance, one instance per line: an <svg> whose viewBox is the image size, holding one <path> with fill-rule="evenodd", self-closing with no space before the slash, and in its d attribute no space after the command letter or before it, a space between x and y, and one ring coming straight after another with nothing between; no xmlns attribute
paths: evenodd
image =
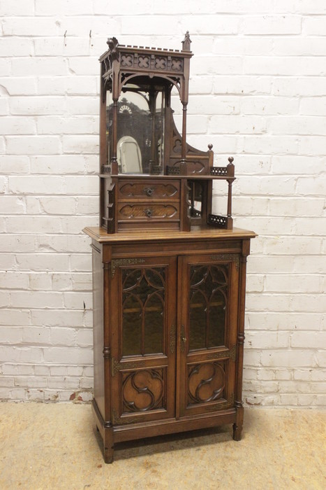
<svg viewBox="0 0 326 490"><path fill-rule="evenodd" d="M111 265L114 425L175 416L176 258Z"/></svg>

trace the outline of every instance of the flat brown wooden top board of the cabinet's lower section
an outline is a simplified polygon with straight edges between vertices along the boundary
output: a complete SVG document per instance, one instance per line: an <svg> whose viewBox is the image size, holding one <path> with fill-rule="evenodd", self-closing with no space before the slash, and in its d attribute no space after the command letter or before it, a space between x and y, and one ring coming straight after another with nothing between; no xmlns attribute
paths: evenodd
<svg viewBox="0 0 326 490"><path fill-rule="evenodd" d="M130 241L177 241L193 240L193 239L242 239L255 238L257 235L253 231L242 230L241 228L233 228L233 230L219 230L212 227L193 227L191 232L180 232L171 230L138 230L128 232L118 232L108 234L103 228L84 228L84 233L89 235L98 243L116 243Z"/></svg>

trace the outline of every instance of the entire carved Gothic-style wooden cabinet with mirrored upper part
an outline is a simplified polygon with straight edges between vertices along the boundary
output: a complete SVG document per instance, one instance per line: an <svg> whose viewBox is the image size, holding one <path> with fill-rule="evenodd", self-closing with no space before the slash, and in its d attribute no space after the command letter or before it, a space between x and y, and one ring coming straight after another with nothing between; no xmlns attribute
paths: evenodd
<svg viewBox="0 0 326 490"><path fill-rule="evenodd" d="M188 34L181 51L108 44L101 228L84 231L93 254L93 408L111 463L114 443L142 437L232 423L241 439L246 257L255 234L232 228L233 159L214 167L212 146L186 144ZM184 106L182 135L172 86ZM212 214L214 179L228 183L226 216Z"/></svg>

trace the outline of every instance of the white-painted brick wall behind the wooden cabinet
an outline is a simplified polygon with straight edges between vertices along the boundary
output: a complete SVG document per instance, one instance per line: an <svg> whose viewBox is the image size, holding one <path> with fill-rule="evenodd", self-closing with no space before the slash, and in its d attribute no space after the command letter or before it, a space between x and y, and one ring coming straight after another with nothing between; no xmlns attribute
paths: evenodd
<svg viewBox="0 0 326 490"><path fill-rule="evenodd" d="M180 48L189 30L188 141L235 156L235 225L259 234L244 399L325 405L325 0L1 0L0 15L0 398L91 398L98 57L108 36Z"/></svg>

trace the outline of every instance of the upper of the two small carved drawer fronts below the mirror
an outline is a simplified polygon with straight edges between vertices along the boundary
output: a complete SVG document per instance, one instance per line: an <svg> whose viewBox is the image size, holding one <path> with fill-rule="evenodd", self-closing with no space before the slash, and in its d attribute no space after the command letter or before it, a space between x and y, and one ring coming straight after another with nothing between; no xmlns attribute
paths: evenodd
<svg viewBox="0 0 326 490"><path fill-rule="evenodd" d="M179 200L180 182L122 181L119 182L119 201L122 200Z"/></svg>

